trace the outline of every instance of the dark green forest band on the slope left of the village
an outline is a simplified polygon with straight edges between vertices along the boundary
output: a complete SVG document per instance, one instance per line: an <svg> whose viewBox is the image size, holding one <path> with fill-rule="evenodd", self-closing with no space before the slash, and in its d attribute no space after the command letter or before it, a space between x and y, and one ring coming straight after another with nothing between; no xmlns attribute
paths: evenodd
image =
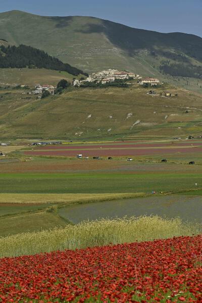
<svg viewBox="0 0 202 303"><path fill-rule="evenodd" d="M63 63L59 59L49 56L40 49L27 46L0 46L0 68L45 68L57 71L65 71L74 76L83 74L88 76L82 70L79 70L68 63Z"/></svg>

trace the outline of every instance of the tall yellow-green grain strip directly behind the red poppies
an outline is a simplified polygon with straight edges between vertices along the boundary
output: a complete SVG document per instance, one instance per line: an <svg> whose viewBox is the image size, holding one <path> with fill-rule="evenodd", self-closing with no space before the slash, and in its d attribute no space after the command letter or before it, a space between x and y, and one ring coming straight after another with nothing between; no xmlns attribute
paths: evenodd
<svg viewBox="0 0 202 303"><path fill-rule="evenodd" d="M148 241L201 232L201 225L158 216L102 219L65 228L0 238L0 257L34 255L54 250Z"/></svg>

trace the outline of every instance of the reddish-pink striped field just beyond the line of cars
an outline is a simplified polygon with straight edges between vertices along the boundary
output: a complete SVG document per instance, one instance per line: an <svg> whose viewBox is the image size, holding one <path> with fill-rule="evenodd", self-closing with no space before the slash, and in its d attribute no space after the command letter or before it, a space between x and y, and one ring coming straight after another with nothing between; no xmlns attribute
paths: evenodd
<svg viewBox="0 0 202 303"><path fill-rule="evenodd" d="M177 153L201 153L202 140L198 142L168 141L168 142L114 142L113 144L69 144L62 146L43 146L35 147L33 150L26 150L26 156L66 156L72 157L77 154L83 156L146 156L146 155L166 155Z"/></svg>

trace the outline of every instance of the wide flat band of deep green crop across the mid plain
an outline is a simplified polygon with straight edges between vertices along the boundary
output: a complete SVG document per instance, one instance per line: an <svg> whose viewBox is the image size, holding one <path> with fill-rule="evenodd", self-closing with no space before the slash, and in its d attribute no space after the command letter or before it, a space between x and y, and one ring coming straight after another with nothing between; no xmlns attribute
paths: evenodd
<svg viewBox="0 0 202 303"><path fill-rule="evenodd" d="M177 192L202 187L202 173L0 174L1 193Z"/></svg>

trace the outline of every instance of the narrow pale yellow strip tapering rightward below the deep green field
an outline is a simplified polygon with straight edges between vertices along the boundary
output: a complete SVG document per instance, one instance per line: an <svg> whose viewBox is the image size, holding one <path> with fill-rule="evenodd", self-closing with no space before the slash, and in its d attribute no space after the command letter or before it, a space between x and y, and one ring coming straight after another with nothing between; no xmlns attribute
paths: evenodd
<svg viewBox="0 0 202 303"><path fill-rule="evenodd" d="M1 193L0 194L0 211L1 204L77 204L93 201L108 201L123 198L135 198L145 196L145 193Z"/></svg>

